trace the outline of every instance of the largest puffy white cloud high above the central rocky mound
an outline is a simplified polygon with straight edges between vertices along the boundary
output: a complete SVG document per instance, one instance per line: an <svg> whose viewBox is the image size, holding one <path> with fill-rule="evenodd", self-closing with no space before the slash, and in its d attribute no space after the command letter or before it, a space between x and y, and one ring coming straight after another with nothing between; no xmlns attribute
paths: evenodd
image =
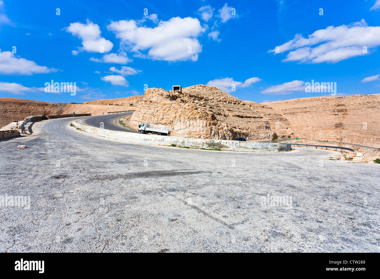
<svg viewBox="0 0 380 279"><path fill-rule="evenodd" d="M138 25L140 22L135 20L119 20L111 21L107 28L116 34L123 47L139 57L165 61L198 60L202 45L197 37L205 31L198 19L173 17L168 21L161 20L154 28Z"/></svg>

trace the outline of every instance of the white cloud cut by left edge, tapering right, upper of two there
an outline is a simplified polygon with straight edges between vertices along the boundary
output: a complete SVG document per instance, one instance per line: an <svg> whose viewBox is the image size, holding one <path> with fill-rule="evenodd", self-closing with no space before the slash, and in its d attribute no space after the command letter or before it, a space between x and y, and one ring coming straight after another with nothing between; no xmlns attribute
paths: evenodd
<svg viewBox="0 0 380 279"><path fill-rule="evenodd" d="M10 51L0 49L0 74L32 75L57 72L57 69L39 66L34 61L19 58Z"/></svg>

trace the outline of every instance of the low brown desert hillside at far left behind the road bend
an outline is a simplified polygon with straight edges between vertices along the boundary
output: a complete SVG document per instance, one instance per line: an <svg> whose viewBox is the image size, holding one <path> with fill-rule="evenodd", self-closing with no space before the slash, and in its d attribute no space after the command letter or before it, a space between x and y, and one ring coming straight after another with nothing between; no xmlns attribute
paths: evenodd
<svg viewBox="0 0 380 279"><path fill-rule="evenodd" d="M25 99L0 98L0 127L31 115L66 113L102 114L109 111L131 110L134 107L121 105L90 105L72 103L46 103Z"/></svg>

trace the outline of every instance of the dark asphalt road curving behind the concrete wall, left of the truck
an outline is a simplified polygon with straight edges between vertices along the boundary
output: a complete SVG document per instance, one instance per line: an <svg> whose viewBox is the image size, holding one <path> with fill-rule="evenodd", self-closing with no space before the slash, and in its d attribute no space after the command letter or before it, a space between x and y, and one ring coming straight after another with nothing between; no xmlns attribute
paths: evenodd
<svg viewBox="0 0 380 279"><path fill-rule="evenodd" d="M97 115L97 116L91 116L91 117L86 117L86 118L78 118L77 121L82 120L83 124L97 127L97 128L99 128L101 123L103 123L104 129L107 129L107 130L122 131L122 132L127 131L127 132L137 133L136 131L125 128L119 124L119 120L118 120L119 118L126 115L130 115L132 113L133 112Z"/></svg>

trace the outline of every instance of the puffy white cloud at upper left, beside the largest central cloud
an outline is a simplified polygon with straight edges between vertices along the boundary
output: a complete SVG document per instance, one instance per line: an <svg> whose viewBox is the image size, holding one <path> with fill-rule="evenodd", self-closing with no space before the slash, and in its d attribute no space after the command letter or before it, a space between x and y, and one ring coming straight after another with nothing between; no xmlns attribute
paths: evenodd
<svg viewBox="0 0 380 279"><path fill-rule="evenodd" d="M80 51L109 52L114 46L111 41L100 36L99 25L93 24L88 19L86 20L86 24L74 22L63 29L82 40L83 47L78 47Z"/></svg>

